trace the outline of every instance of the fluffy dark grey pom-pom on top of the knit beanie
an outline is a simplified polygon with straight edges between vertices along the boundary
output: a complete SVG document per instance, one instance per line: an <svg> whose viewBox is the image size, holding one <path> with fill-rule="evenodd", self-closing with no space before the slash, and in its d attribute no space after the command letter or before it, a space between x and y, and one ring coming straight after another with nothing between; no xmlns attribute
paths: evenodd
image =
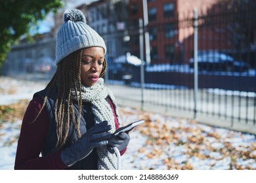
<svg viewBox="0 0 256 183"><path fill-rule="evenodd" d="M83 15L83 12L77 9L68 9L64 11L64 14L63 14L64 23L68 22L68 20L72 22L84 22L85 24L87 23L85 16Z"/></svg>

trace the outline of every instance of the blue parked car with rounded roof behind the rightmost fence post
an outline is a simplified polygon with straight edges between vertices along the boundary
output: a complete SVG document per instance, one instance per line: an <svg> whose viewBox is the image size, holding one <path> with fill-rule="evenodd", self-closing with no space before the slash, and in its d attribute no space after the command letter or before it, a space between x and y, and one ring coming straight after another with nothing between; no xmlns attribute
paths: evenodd
<svg viewBox="0 0 256 183"><path fill-rule="evenodd" d="M194 68L194 58L189 59L189 67ZM198 54L199 71L236 71L243 72L249 69L244 61L238 61L220 52L203 52Z"/></svg>

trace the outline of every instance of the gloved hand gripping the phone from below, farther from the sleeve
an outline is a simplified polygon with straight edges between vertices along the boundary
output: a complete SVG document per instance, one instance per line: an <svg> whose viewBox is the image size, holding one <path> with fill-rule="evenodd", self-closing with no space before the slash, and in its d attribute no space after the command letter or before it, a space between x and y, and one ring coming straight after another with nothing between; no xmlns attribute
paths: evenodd
<svg viewBox="0 0 256 183"><path fill-rule="evenodd" d="M112 134L110 139L108 139L108 151L114 154L113 147L116 147L119 151L121 151L128 146L129 141L130 136L128 133L121 132L118 135Z"/></svg>

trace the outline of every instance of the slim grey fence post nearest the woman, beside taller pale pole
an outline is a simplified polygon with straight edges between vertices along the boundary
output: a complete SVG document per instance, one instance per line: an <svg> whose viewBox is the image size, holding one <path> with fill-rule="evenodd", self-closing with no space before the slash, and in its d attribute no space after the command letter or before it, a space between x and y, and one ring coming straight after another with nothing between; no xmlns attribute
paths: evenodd
<svg viewBox="0 0 256 183"><path fill-rule="evenodd" d="M143 21L139 19L139 33L140 33L140 86L141 86L141 110L144 107L144 50L143 50Z"/></svg>

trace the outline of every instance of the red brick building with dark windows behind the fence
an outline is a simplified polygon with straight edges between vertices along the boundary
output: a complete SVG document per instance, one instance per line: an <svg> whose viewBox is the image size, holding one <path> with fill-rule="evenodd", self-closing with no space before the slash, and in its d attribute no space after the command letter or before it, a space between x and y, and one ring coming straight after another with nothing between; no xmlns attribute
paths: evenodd
<svg viewBox="0 0 256 183"><path fill-rule="evenodd" d="M182 22L194 16L197 8L200 13L216 3L215 0L148 0L148 31L150 33L151 63L186 63L192 56L192 35L194 29L184 29ZM135 26L139 18L143 18L142 1L129 1L129 22ZM135 55L138 53L138 38L131 40L131 48ZM186 49L184 49L186 47ZM190 48L190 49L188 49Z"/></svg>

